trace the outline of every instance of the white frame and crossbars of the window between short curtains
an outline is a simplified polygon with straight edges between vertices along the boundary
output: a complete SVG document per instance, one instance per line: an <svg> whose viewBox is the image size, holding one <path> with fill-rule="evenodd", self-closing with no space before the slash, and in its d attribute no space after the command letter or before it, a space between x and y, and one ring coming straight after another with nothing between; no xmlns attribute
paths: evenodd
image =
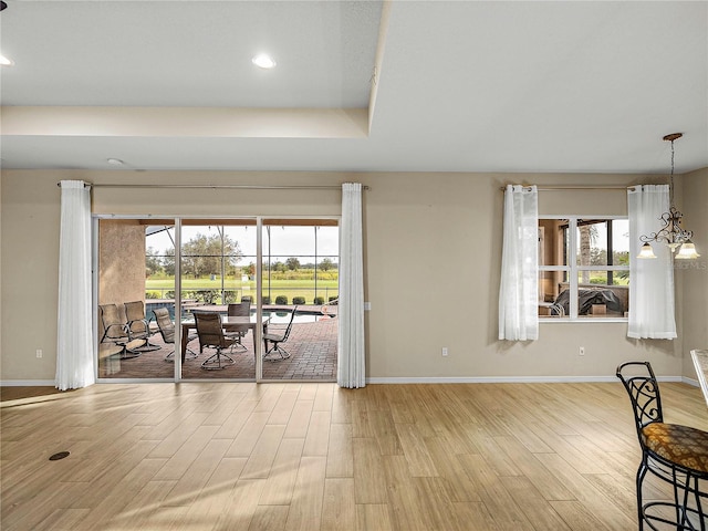
<svg viewBox="0 0 708 531"><path fill-rule="evenodd" d="M628 321L627 311L625 310L624 316L612 315L607 317L601 316L586 316L579 315L579 275L583 271L629 271L629 264L591 264L591 266L581 266L577 260L579 252L579 238L577 238L577 227L579 220L590 220L595 219L598 221L612 221L612 220L627 220L627 216L586 216L586 215L565 215L565 216L539 216L539 221L542 220L568 220L568 230L569 230L569 239L568 244L572 250L568 253L568 264L565 266L541 266L539 263L539 277L543 272L565 272L568 275L568 284L570 290L570 314L564 316L552 316L552 315L539 315L540 323L626 323ZM540 249L541 251L541 249ZM628 287L629 284L627 284ZM631 289L631 288L627 288Z"/></svg>

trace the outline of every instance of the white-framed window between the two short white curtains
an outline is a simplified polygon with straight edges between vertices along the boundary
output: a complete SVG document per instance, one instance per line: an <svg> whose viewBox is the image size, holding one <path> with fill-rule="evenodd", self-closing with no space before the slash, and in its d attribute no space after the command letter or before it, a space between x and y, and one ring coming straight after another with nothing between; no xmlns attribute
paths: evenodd
<svg viewBox="0 0 708 531"><path fill-rule="evenodd" d="M626 218L539 219L539 315L624 319L629 311Z"/></svg>

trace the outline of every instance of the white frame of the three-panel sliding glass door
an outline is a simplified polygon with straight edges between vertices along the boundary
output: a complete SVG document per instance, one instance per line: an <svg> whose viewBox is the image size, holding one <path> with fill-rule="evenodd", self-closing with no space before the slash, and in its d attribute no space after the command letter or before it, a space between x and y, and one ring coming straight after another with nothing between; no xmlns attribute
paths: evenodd
<svg viewBox="0 0 708 531"><path fill-rule="evenodd" d="M293 226L341 226L341 216L218 216L214 218L206 218L204 216L168 216L168 215L93 215L92 216L92 271L93 271L93 308L94 308L94 330L100 329L98 316L98 287L100 287L100 222L101 220L140 220L144 225L168 225L174 223L175 228L175 308L181 308L183 299L183 272L181 269L181 249L183 249L183 225L246 225L256 228L257 233L257 259L256 259L256 293L261 294L263 290L263 242L262 233L264 222L270 225L293 225ZM242 221L242 223L233 223L235 221ZM339 229L337 229L339 230ZM177 252L179 250L179 252ZM337 251L339 253L339 251ZM315 292L316 293L316 292ZM256 350L256 377L258 383L282 383L283 379L267 379L262 377L263 356L262 356L262 314L263 314L263 301L262 296L256 296L256 327L253 329L253 347ZM177 321L177 319L176 319ZM101 337L96 336L94 341L94 358L98 356L98 344ZM175 326L175 363L174 375L170 378L165 377L148 377L148 378L106 378L98 375L98 363L95 364L96 368L96 382L97 383L160 383L160 382L215 382L215 378L185 378L181 371L181 358L179 356L181 344L181 326ZM337 356L339 360L339 356ZM220 378L217 382L237 381L243 379L230 379ZM250 378L248 381L251 381ZM304 379L296 379L294 382L306 382ZM316 379L314 382L322 383L323 379Z"/></svg>

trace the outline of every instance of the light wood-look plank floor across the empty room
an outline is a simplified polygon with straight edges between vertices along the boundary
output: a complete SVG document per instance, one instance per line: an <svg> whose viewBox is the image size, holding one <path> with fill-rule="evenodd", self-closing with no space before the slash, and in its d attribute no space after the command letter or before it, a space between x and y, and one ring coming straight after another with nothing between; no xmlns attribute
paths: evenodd
<svg viewBox="0 0 708 531"><path fill-rule="evenodd" d="M700 389L662 392L667 421L708 429ZM3 393L4 531L637 529L620 383L35 394Z"/></svg>

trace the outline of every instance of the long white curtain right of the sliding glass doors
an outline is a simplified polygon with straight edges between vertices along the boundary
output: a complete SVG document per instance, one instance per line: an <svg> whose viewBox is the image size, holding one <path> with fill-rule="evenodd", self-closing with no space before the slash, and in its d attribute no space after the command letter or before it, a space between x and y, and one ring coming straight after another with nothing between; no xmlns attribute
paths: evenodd
<svg viewBox="0 0 708 531"><path fill-rule="evenodd" d="M362 246L362 185L342 185L340 226L339 364L340 387L364 387L364 254Z"/></svg>

